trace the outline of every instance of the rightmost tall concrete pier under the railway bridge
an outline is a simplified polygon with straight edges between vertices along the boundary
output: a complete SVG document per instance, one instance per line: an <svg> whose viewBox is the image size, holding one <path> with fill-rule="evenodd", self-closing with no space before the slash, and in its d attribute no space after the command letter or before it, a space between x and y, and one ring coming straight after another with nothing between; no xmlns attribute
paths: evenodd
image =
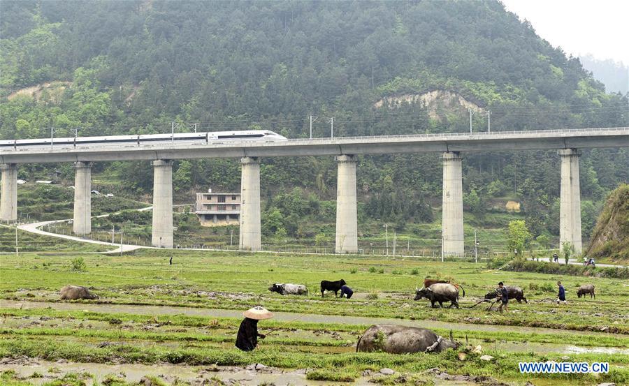
<svg viewBox="0 0 629 386"><path fill-rule="evenodd" d="M559 248L569 242L580 255L581 246L581 186L579 185L579 156L577 149L557 151L561 157L561 195L559 206Z"/></svg>

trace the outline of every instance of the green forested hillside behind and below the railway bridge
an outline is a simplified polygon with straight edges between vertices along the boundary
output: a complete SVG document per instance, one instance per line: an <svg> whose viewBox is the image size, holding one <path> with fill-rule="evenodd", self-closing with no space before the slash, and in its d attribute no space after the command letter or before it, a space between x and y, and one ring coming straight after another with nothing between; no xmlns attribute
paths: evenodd
<svg viewBox="0 0 629 386"><path fill-rule="evenodd" d="M289 138L629 126L628 96L605 87L498 1L10 1L0 3L0 139L270 128ZM410 103L383 103L402 97ZM381 103L379 103L379 101ZM535 237L558 235L553 151L465 154L465 208L479 226L521 202ZM584 236L607 192L629 181L629 151L584 151ZM24 165L20 176L50 166ZM57 165L71 178L71 165ZM99 163L129 194L150 193L148 163ZM362 218L438 218L438 154L361 157ZM297 232L303 216L333 218L333 159L264 159L265 217ZM233 160L175 164L178 200L237 189ZM192 188L191 188L192 187ZM294 191L294 188L301 191ZM295 200L282 200L292 197ZM275 199L273 199L275 197ZM500 199L500 200L499 200ZM497 201L498 200L498 201ZM289 205L298 202L299 205ZM305 203L310 202L311 205ZM276 216L277 217L277 216ZM282 223L284 222L284 223ZM333 221L332 221L333 223Z"/></svg>

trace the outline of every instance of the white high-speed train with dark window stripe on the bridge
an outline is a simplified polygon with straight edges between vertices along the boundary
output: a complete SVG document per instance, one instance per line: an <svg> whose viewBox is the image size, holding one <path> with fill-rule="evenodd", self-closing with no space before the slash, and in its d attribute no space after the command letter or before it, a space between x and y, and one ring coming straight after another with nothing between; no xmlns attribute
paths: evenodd
<svg viewBox="0 0 629 386"><path fill-rule="evenodd" d="M121 146L128 144L210 144L221 142L275 142L286 137L268 130L215 131L207 133L107 135L105 137L39 138L36 140L3 140L0 149L24 147L78 147L99 144L101 146ZM52 144L51 144L52 142Z"/></svg>

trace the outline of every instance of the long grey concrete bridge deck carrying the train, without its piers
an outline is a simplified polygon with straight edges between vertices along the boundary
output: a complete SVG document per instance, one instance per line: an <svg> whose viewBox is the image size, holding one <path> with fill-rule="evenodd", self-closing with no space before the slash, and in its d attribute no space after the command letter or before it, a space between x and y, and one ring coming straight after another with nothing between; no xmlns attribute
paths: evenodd
<svg viewBox="0 0 629 386"><path fill-rule="evenodd" d="M629 147L629 127L295 139L210 144L55 145L3 149L0 163L124 161L185 158L337 156L444 151L511 151Z"/></svg>

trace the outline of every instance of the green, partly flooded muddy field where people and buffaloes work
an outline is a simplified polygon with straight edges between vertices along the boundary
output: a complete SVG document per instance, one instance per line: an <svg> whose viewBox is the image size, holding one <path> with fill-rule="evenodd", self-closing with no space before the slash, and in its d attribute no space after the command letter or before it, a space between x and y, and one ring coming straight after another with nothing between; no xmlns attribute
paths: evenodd
<svg viewBox="0 0 629 386"><path fill-rule="evenodd" d="M0 256L0 371L7 385L597 385L629 382L629 285L576 276L500 272L470 262L338 256L176 253ZM382 273L380 273L382 272ZM461 309L414 302L426 276L465 288ZM345 279L352 299L321 297L318 282ZM544 301L566 287L568 304ZM509 312L469 308L498 281L519 285L528 304ZM308 296L268 291L302 283ZM577 299L593 283L596 298ZM59 301L86 285L99 299ZM276 314L254 352L233 347L243 310ZM297 320L294 320L298 318ZM291 321L293 320L293 321ZM288 322L288 324L286 324ZM452 330L461 348L441 354L356 353L375 323ZM279 328L278 328L279 327ZM481 359L489 355L491 359ZM609 362L594 376L530 376L518 362ZM256 365L257 364L257 365ZM389 371L389 369L392 371Z"/></svg>

